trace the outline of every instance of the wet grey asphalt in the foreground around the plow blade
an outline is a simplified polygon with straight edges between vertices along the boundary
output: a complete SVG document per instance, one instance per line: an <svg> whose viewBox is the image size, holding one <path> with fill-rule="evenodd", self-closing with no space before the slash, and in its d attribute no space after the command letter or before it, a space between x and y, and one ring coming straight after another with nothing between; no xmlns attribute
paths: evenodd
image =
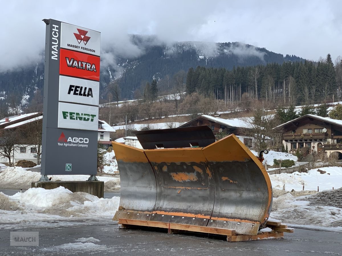
<svg viewBox="0 0 342 256"><path fill-rule="evenodd" d="M341 233L305 229L285 233L284 239L235 243L208 234L119 229L116 222L92 226L78 226L75 222L73 227L15 231L38 231L39 246L10 246L10 230L2 229L1 255L342 255ZM90 237L100 241L77 241Z"/></svg>

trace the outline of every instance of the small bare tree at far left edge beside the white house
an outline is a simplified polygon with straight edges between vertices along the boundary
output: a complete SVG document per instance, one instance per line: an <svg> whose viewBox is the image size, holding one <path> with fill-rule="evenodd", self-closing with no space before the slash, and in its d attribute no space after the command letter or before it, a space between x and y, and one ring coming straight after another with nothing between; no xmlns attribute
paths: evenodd
<svg viewBox="0 0 342 256"><path fill-rule="evenodd" d="M0 156L8 158L9 165L12 165L11 158L14 152L20 149L17 144L19 132L17 129L5 129L0 131Z"/></svg>

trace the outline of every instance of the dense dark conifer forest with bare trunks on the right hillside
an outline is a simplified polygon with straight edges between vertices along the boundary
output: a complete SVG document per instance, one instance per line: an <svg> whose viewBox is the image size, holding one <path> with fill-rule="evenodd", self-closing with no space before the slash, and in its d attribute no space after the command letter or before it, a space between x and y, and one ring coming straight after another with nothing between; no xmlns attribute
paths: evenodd
<svg viewBox="0 0 342 256"><path fill-rule="evenodd" d="M268 63L250 67L190 68L186 92L215 95L225 102L315 104L342 98L342 60L334 65L330 54L318 63L312 61Z"/></svg>

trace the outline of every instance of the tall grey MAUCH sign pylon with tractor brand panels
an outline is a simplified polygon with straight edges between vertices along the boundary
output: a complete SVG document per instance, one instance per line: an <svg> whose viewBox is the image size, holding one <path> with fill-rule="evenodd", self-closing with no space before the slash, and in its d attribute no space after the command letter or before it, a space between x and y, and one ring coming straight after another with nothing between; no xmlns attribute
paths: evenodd
<svg viewBox="0 0 342 256"><path fill-rule="evenodd" d="M47 26L41 180L50 174L95 175L101 33L43 21Z"/></svg>

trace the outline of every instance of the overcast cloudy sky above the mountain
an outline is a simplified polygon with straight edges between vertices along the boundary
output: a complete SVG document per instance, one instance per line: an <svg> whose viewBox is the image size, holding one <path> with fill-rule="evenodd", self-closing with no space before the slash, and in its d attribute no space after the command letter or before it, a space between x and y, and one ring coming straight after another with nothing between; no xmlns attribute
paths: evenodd
<svg viewBox="0 0 342 256"><path fill-rule="evenodd" d="M101 32L102 50L141 53L127 34L164 42L239 41L318 60L342 55L342 1L1 1L0 70L36 62L45 43L43 18ZM111 56L107 56L108 59Z"/></svg>

